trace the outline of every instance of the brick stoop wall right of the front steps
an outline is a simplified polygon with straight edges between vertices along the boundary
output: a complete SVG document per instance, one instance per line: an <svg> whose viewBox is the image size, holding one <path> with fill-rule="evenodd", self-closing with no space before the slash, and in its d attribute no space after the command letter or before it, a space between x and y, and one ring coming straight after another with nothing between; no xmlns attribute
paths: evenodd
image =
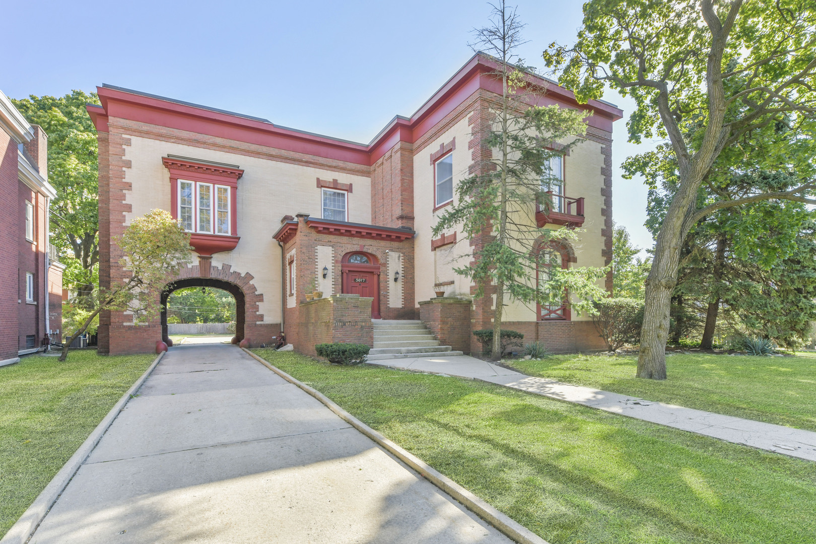
<svg viewBox="0 0 816 544"><path fill-rule="evenodd" d="M470 354L470 299L437 297L419 301L419 319L443 346Z"/></svg>

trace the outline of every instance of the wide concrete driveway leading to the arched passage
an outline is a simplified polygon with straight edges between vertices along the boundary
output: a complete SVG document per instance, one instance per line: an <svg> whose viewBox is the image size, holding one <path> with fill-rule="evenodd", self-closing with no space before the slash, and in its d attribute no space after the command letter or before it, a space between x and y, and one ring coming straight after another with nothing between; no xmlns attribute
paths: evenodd
<svg viewBox="0 0 816 544"><path fill-rule="evenodd" d="M30 542L510 541L312 396L211 344L171 348Z"/></svg>

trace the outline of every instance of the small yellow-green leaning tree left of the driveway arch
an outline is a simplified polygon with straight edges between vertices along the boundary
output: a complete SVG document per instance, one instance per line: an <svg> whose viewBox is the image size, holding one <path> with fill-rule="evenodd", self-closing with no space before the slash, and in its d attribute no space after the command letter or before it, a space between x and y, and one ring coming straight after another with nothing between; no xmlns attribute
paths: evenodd
<svg viewBox="0 0 816 544"><path fill-rule="evenodd" d="M65 340L60 360L68 357L69 345L103 310L129 310L135 323L157 315L160 307L157 293L189 261L193 249L190 235L165 210L151 210L144 217L133 219L118 239L118 245L125 254L119 263L131 276L121 284L86 295L85 300L90 300L85 305L89 308L86 319Z"/></svg>

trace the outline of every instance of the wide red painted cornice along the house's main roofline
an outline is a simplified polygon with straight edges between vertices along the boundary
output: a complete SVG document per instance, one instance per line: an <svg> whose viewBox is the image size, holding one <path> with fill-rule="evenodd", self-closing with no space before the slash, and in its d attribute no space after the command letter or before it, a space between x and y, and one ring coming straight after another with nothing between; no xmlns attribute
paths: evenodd
<svg viewBox="0 0 816 544"><path fill-rule="evenodd" d="M198 134L233 139L248 144L304 153L353 164L370 166L400 141L415 143L479 89L500 91L499 82L490 75L496 62L477 53L434 93L410 118L394 117L370 144L315 135L275 126L272 122L238 113L224 112L197 104L182 103L139 91L97 87L102 107L89 105L87 111L97 130L107 131L109 118L124 118ZM579 104L575 95L556 83L541 79L547 93L538 105L561 104L592 113L591 126L612 131L612 123L623 117L623 111L600 100Z"/></svg>

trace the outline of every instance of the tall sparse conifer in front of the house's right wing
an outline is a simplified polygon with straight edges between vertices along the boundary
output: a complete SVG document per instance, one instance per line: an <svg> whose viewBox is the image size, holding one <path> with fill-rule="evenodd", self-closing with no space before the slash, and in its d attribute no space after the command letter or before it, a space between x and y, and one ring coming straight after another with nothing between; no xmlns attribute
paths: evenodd
<svg viewBox="0 0 816 544"><path fill-rule="evenodd" d="M433 235L457 226L470 237L485 232L492 235L475 251L473 263L455 272L475 281L477 296L484 294L485 285L495 286L492 357L499 359L503 307L508 298L561 306L569 292L577 312L592 313L591 300L606 295L597 280L607 269L550 266L548 243L570 238L572 233L538 228L536 206L552 206L550 159L581 141L586 113L535 105L546 89L516 55L524 27L516 10L501 0L493 6L490 23L474 30L477 44L473 48L493 56L497 68L490 75L501 82L502 94L488 99L490 123L482 135L493 157L478 165L476 175L459 182L458 201L441 215ZM558 149L548 149L549 142L557 143ZM539 271L548 273L539 275Z"/></svg>

